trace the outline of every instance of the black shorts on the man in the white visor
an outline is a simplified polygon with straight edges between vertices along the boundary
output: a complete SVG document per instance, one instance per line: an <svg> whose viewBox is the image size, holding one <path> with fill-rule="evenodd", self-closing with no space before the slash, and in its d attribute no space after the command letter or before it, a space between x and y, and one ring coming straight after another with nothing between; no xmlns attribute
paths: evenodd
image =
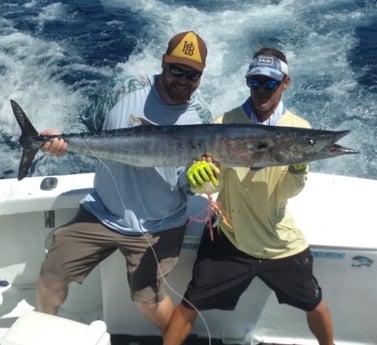
<svg viewBox="0 0 377 345"><path fill-rule="evenodd" d="M258 259L239 251L221 232L212 241L208 229L203 232L185 299L198 310L234 310L254 277L275 292L279 303L310 311L322 300L309 249L282 259ZM182 303L192 309L190 303Z"/></svg>

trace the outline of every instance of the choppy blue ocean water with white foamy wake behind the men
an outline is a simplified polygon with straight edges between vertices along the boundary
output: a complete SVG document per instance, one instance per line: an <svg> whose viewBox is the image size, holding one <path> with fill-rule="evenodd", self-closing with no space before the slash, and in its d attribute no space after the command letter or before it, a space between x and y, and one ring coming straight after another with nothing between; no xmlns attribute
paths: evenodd
<svg viewBox="0 0 377 345"><path fill-rule="evenodd" d="M340 144L360 151L311 170L377 178L375 0L2 0L0 13L0 178L17 176L21 155L10 99L39 130L69 128L98 83L159 72L168 40L186 30L208 44L201 93L214 114L247 97L253 52L278 47L292 77L286 105L315 128L350 129ZM93 166L86 157L40 154L31 174Z"/></svg>

